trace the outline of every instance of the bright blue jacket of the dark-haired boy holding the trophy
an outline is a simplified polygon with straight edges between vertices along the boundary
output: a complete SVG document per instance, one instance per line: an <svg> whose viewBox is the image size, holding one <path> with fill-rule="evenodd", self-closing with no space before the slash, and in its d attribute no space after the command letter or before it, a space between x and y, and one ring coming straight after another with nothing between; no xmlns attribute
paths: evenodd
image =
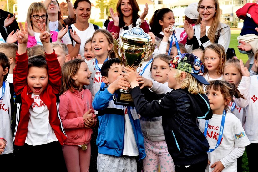
<svg viewBox="0 0 258 172"><path fill-rule="evenodd" d="M115 105L113 94L105 87L96 94L92 106L99 113L99 129L96 144L100 154L122 156L124 149L124 106ZM130 110L129 110L130 109ZM128 107L128 114L134 131L134 138L139 150L139 159L145 154L144 139L141 132L140 119L135 107Z"/></svg>

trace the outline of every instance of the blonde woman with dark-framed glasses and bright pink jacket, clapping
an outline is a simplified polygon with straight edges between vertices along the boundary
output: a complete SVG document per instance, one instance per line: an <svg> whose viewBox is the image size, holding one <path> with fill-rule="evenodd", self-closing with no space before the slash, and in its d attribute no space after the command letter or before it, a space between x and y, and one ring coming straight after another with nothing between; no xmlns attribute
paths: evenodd
<svg viewBox="0 0 258 172"><path fill-rule="evenodd" d="M50 42L61 41L62 37L68 30L68 26L66 29L64 27L60 32L50 31L49 29L49 20L48 20L48 9L43 3L32 3L28 9L27 13L27 23L28 23L28 47L33 47L35 45L42 45L39 39L39 24L43 28L45 23L45 27L48 32L51 33ZM21 24L20 24L21 25Z"/></svg>

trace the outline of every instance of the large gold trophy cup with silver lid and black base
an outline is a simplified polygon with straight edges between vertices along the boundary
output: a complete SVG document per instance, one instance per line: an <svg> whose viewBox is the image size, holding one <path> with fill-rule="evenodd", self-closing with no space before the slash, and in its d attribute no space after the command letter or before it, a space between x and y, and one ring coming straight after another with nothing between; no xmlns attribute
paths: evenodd
<svg viewBox="0 0 258 172"><path fill-rule="evenodd" d="M137 19L136 27L124 31L120 37L122 43L119 46L119 39L114 39L114 50L118 58L126 68L136 70L142 63L151 56L155 45L151 43L151 37L140 28L141 19ZM114 104L134 106L130 88L117 90L113 96Z"/></svg>

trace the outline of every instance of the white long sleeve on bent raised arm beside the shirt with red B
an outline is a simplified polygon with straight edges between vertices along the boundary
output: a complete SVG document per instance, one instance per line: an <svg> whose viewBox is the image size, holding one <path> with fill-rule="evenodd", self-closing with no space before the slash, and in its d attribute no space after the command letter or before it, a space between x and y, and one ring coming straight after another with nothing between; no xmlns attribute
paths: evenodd
<svg viewBox="0 0 258 172"><path fill-rule="evenodd" d="M249 98L250 84L251 84L251 77L243 76L238 86L238 90L246 98L246 100L243 98L235 99L236 104L241 108L245 108L249 104L248 98Z"/></svg>

